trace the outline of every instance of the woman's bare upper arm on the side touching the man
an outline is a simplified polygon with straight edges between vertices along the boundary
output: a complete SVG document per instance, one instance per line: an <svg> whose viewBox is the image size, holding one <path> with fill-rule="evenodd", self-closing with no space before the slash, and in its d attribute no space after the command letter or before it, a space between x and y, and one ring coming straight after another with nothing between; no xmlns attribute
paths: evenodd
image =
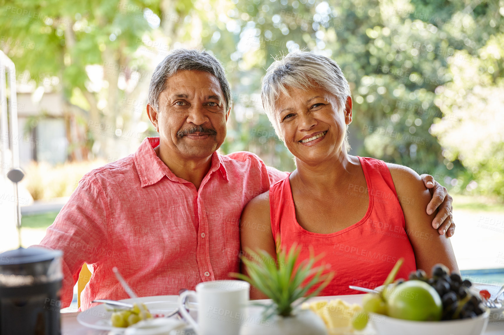
<svg viewBox="0 0 504 335"><path fill-rule="evenodd" d="M250 200L241 213L240 221L241 249L248 259L251 256L246 253L250 248L258 253L266 250L276 260L275 240L271 232L270 222L270 196L265 192ZM246 269L241 263L241 272L246 275ZM250 288L250 299L268 299L258 289Z"/></svg>

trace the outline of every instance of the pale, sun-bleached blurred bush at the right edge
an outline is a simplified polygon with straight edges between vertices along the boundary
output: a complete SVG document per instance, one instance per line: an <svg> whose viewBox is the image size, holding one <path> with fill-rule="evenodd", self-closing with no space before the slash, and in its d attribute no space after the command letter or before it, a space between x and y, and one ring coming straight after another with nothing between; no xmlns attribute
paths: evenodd
<svg viewBox="0 0 504 335"><path fill-rule="evenodd" d="M447 164L458 159L467 168L459 188L504 200L504 34L491 36L478 54L454 54L453 80L436 89L444 117L434 120L431 132Z"/></svg>

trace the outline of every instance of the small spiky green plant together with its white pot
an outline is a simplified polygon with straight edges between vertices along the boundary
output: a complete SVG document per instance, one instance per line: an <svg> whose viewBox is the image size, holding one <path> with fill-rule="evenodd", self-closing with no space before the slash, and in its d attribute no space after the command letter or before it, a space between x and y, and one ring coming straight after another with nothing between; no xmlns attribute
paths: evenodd
<svg viewBox="0 0 504 335"><path fill-rule="evenodd" d="M324 321L300 306L307 299L317 296L333 279L334 273L327 273L324 265L313 268L319 257L310 257L296 266L300 251L301 248L294 244L287 252L277 243L274 259L264 250L259 253L245 250L248 257L244 255L241 260L248 276L232 275L249 282L273 302L256 304L264 307L258 317L261 322L254 317L250 322L249 318L249 322L241 327L240 335L327 335Z"/></svg>

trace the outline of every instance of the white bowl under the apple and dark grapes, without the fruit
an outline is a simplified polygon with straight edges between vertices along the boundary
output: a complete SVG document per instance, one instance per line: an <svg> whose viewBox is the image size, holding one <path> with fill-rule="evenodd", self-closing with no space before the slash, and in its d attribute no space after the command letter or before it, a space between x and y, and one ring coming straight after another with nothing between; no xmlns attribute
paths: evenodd
<svg viewBox="0 0 504 335"><path fill-rule="evenodd" d="M488 312L447 321L410 321L369 313L369 323L380 335L480 335L488 324Z"/></svg>

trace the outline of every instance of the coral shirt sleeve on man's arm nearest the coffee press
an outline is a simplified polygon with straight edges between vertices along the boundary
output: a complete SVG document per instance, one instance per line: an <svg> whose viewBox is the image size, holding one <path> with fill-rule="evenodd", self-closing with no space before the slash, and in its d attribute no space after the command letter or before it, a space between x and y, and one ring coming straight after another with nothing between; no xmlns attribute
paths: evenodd
<svg viewBox="0 0 504 335"><path fill-rule="evenodd" d="M109 249L108 207L100 190L92 179L81 180L37 245L63 252L61 308L72 302L82 265L99 262Z"/></svg>

